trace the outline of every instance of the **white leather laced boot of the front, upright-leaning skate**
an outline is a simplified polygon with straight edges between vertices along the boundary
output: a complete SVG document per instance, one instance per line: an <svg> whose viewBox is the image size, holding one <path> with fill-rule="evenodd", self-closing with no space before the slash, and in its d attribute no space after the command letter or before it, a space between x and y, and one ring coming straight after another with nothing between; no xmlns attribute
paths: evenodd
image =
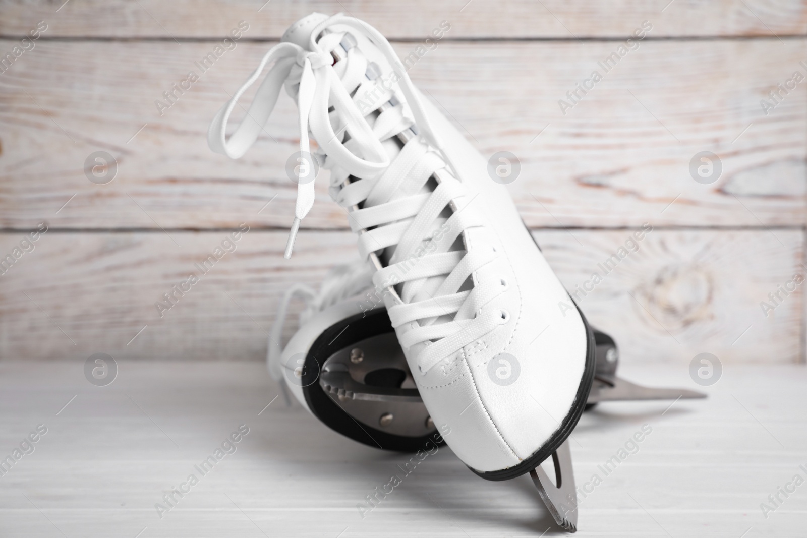
<svg viewBox="0 0 807 538"><path fill-rule="evenodd" d="M227 139L236 100L270 63ZM298 102L304 160L286 257L314 200L310 130L373 272L369 299L383 299L433 423L483 478L534 469L583 412L595 346L507 190L383 35L343 15L312 14L286 31L216 115L211 148L243 155L282 85ZM328 352L312 348L311 358L321 364Z"/></svg>

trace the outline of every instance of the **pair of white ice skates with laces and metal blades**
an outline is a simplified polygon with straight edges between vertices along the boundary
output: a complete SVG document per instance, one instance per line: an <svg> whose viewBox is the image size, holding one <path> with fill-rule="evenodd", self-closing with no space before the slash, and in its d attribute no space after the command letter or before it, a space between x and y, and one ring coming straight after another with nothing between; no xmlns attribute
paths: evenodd
<svg viewBox="0 0 807 538"><path fill-rule="evenodd" d="M482 478L530 473L558 524L574 530L566 440L587 405L686 391L654 392L614 375L616 344L570 307L507 190L416 90L383 35L358 19L312 14L281 41L215 116L208 142L243 155L285 86L300 130L286 257L321 167L358 234L362 265L337 271L319 294L290 290L278 327L295 290L310 311L282 353L274 332L270 372L359 442L410 451L440 432ZM237 100L266 65L227 136ZM557 486L539 467L548 457Z"/></svg>

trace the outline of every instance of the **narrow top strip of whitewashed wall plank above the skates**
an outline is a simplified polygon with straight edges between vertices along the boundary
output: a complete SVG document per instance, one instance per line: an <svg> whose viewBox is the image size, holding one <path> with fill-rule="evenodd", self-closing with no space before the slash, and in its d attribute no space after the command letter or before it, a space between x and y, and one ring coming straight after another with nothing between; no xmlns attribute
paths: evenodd
<svg viewBox="0 0 807 538"><path fill-rule="evenodd" d="M93 37L211 37L226 34L232 24L248 21L253 37L278 38L291 23L312 11L339 11L374 25L390 38L419 39L441 20L452 26L452 37L564 38L621 37L643 20L663 36L805 34L805 2L563 2L546 0L451 0L450 2L264 2L264 0L36 0L0 2L0 35L23 35L39 20L48 35Z"/></svg>

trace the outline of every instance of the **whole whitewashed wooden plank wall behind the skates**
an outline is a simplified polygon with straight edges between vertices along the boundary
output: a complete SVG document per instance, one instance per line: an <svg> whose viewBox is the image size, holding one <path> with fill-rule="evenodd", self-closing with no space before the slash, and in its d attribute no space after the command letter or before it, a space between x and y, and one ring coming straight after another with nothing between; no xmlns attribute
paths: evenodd
<svg viewBox="0 0 807 538"><path fill-rule="evenodd" d="M803 361L801 286L767 316L759 303L807 273L807 84L768 96L807 75L807 2L665 4L0 2L3 55L47 25L0 73L0 255L48 226L0 275L0 359L260 360L283 290L355 259L324 182L282 259L295 197L283 165L298 142L289 98L240 161L205 137L282 31L317 10L366 19L401 55L450 24L410 74L483 155L519 158L509 188L571 290L633 229L654 227L581 302L626 359ZM159 111L242 20L236 48ZM638 48L562 111L644 21ZM95 151L118 163L107 185L85 176ZM689 172L702 151L722 165L710 185ZM236 252L161 318L154 302L240 223L250 231Z"/></svg>

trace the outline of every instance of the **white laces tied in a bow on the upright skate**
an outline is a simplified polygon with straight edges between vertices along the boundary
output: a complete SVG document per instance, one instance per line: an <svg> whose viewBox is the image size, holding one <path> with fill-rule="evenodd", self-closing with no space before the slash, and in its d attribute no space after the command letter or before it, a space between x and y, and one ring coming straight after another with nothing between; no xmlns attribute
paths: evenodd
<svg viewBox="0 0 807 538"><path fill-rule="evenodd" d="M341 31L324 34L334 26ZM379 87L378 78L366 77L368 60L358 47L349 47L343 60L333 61L332 52L347 34L344 27L368 38L387 59L403 102L392 88ZM403 348L424 344L417 364L425 374L507 321L503 311L483 310L506 283L499 279L474 282L473 278L497 254L493 249L455 246L462 243L457 241L462 231L483 223L475 211L464 211L470 204L466 189L452 172L456 168L441 149L412 81L383 35L358 19L334 15L312 31L309 48L311 52L284 42L267 52L213 119L208 143L215 152L242 156L257 140L286 85L298 103L300 153L310 155L310 128L319 145L317 154L324 158L322 166L331 170L331 195L348 211L350 227L359 234L362 259L370 258L378 269L374 286L393 297L395 304L388 309L393 327L410 327L400 336L400 344ZM270 62L274 65L245 119L227 139L228 119L237 100ZM361 99L370 102L362 102L360 109ZM404 132L408 136L402 137ZM383 142L394 136L405 144L391 159ZM314 196L314 181L299 177L286 258ZM460 201L466 205L461 207ZM472 286L466 289L469 281ZM304 293L312 292L309 288Z"/></svg>

